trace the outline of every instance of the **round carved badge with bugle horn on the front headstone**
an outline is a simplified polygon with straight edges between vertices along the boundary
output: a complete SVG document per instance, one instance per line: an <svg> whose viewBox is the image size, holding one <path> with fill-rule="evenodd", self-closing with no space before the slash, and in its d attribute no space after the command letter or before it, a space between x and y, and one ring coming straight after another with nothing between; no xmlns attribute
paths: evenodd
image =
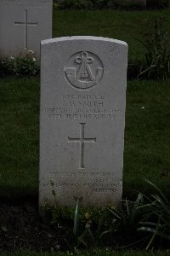
<svg viewBox="0 0 170 256"><path fill-rule="evenodd" d="M70 57L64 71L65 79L71 86L78 90L88 90L99 84L104 67L97 55L82 51Z"/></svg>

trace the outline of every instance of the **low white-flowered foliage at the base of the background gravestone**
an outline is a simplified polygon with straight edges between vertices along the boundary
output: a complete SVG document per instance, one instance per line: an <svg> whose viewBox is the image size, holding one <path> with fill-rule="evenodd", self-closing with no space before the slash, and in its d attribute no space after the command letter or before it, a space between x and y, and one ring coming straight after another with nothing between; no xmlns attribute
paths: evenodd
<svg viewBox="0 0 170 256"><path fill-rule="evenodd" d="M32 50L25 56L6 58L0 62L0 75L35 76L40 67Z"/></svg>

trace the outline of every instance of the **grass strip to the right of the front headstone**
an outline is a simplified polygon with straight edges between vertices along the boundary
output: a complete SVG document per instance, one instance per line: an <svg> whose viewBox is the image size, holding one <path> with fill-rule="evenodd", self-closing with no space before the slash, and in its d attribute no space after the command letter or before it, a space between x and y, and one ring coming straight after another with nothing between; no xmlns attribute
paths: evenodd
<svg viewBox="0 0 170 256"><path fill-rule="evenodd" d="M124 151L124 195L129 190L150 193L140 172L156 179L169 193L169 177L161 177L170 167L170 87L169 81L133 81L127 86Z"/></svg>

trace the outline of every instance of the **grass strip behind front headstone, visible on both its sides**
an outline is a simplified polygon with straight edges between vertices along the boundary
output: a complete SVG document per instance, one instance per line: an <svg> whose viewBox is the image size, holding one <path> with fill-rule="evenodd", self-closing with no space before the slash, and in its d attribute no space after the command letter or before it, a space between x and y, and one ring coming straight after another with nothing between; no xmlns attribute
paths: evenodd
<svg viewBox="0 0 170 256"><path fill-rule="evenodd" d="M133 190L150 193L140 172L169 192L170 180L161 177L170 167L169 82L127 84L124 197ZM39 84L38 78L0 80L0 197L37 196Z"/></svg>

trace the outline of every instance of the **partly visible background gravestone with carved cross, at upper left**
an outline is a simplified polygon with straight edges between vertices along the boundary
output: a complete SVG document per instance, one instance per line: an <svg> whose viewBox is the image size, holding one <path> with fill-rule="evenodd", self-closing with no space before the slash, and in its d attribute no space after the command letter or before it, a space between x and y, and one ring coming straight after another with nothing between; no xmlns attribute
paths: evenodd
<svg viewBox="0 0 170 256"><path fill-rule="evenodd" d="M52 0L0 0L0 58L40 55L42 39L52 37Z"/></svg>

